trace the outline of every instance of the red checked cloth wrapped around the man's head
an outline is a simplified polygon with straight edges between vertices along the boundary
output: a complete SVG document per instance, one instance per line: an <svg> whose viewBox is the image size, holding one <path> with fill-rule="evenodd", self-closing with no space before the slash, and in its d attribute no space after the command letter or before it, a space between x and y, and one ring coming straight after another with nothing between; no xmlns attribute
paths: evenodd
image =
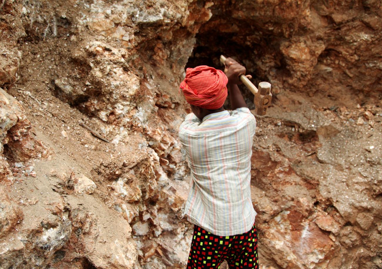
<svg viewBox="0 0 382 269"><path fill-rule="evenodd" d="M187 68L180 89L189 104L214 110L221 108L227 98L227 83L223 71L201 65Z"/></svg>

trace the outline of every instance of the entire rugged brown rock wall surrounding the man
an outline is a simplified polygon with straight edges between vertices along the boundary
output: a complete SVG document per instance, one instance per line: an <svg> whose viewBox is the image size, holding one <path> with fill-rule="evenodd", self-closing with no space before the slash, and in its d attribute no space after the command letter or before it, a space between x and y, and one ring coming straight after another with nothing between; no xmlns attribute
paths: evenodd
<svg viewBox="0 0 382 269"><path fill-rule="evenodd" d="M260 268L381 267L381 16L379 1L3 1L0 268L184 268L178 85L220 54L272 83L251 170Z"/></svg>

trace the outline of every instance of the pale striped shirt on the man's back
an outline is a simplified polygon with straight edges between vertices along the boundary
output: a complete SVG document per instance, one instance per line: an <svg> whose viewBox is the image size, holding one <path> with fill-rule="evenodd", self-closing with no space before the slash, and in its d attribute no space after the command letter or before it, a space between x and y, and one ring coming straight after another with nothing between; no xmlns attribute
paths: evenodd
<svg viewBox="0 0 382 269"><path fill-rule="evenodd" d="M256 211L251 201L251 155L256 119L248 108L188 114L179 127L191 182L183 216L208 232L248 232Z"/></svg>

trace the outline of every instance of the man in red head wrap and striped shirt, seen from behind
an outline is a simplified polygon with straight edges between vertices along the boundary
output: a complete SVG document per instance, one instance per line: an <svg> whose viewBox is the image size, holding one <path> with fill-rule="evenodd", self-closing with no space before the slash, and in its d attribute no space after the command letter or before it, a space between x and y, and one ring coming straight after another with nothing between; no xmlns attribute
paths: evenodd
<svg viewBox="0 0 382 269"><path fill-rule="evenodd" d="M225 74L187 68L180 84L190 113L179 128L191 182L184 215L194 224L187 269L258 268L250 170L256 120L238 88L245 68L232 58ZM247 76L251 78L251 76ZM223 103L230 92L232 111Z"/></svg>

